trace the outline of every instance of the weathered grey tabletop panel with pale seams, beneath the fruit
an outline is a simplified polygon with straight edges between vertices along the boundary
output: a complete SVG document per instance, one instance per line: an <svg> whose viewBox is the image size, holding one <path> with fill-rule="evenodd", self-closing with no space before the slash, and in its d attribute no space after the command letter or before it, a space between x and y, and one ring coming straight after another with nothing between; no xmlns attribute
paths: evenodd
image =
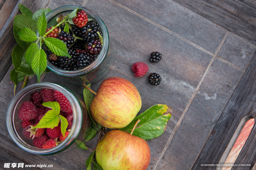
<svg viewBox="0 0 256 170"><path fill-rule="evenodd" d="M225 49L221 48L221 51L223 51L222 56L219 56L221 59L217 57L213 64L210 65L209 70L207 70L227 30L220 26L216 27L216 24L175 2L167 3L165 1L160 2L153 0L146 2L131 1L127 3L127 1L117 2L113 0L88 0L88 2L87 0L51 0L48 7L54 9L69 4L86 4L85 7L98 14L108 28L113 45L112 49L114 50L114 61L112 68L103 79L110 76L120 76L131 81L137 87L142 98L142 108L139 114L158 103L167 104L174 109L172 118L168 122L164 134L152 140L147 140L151 149L151 162L148 170L164 168L189 169L189 166L195 161L197 153L207 140L207 135L210 131L209 128L212 129L215 126L226 103L235 90L243 75L242 67L244 67L244 69L246 68L256 46L247 41L240 43L242 38L230 33L225 43L230 41L240 45L233 46L233 44L228 43ZM154 6L154 8L152 8L152 6ZM169 15L169 17L166 17L169 11L175 12ZM160 14L157 14L157 12ZM189 19L187 19L187 16L189 16ZM184 20L186 20L186 22L184 22ZM198 24L200 24L199 28L197 28ZM234 51L231 50L233 47L235 47L237 51L242 51L242 49L246 50L248 55L242 58L242 53L235 51L233 54ZM158 51L163 55L161 62L151 63L148 61L150 53L153 51ZM230 53L233 54L233 57L228 58ZM144 77L137 78L133 76L131 66L137 61L145 62L149 66L150 70ZM242 64L239 65L240 63ZM6 129L6 109L8 102L13 97L14 84L10 84L11 80L9 78L9 72L12 69L13 66L7 69L8 72L5 74L0 84L0 129L2 129L0 136L3 137L3 139L0 138L0 142L9 142L9 145L15 148L20 154L16 154L15 156L11 156L13 153L9 155L0 154L1 165L15 161L18 163L23 160L23 157L26 159L30 156L29 153L18 148L12 142ZM199 99L195 98L195 103L193 103L193 100L190 106L188 102L191 96L200 83L203 74L208 71L209 73L205 80L201 82L201 94L196 95ZM162 82L159 86L152 86L148 83L147 77L151 72L157 72L161 75ZM92 89L97 91L102 80L92 84ZM54 73L47 73L43 81L63 84L81 96L83 95L82 86L66 83ZM230 84L230 82L232 82L232 84ZM36 77L29 80L28 84L32 83L36 83ZM21 84L18 85L17 90L20 88L20 85ZM205 94L204 90L206 90ZM207 93L212 97L217 93L216 100L206 100L211 98ZM198 103L202 103L202 106L194 107L198 106ZM210 104L210 107L208 104ZM188 116L185 116L184 120L182 120L181 115L184 110L190 107L191 110L188 109ZM207 107L217 109L216 115L209 112L209 109L206 109ZM205 109L208 111L205 112ZM212 116L212 119L208 119L208 117L204 117L204 115L209 117L211 115L214 116ZM200 121L195 120L194 117ZM184 121L184 124L188 125L184 127L183 124L181 124L181 128L179 128L181 131L178 129L176 132L177 138L175 138L176 136L174 137L174 139L180 137L182 141L174 140L174 143L170 144L170 149L168 148L168 150L166 150L165 145L179 121ZM209 124L209 122L211 123ZM186 128L186 130L182 131L183 127ZM193 129L192 127L199 133L203 132L202 135L191 133L188 129ZM205 131L206 128L207 131ZM181 136L180 132L184 135ZM184 140L184 138L186 140ZM86 142L86 145L90 148L94 148L96 141L97 137ZM190 141L194 143L197 142L197 144L194 145L194 143L192 143L192 145L190 145ZM172 148L179 148L180 143L188 146L186 150L173 151ZM13 152L12 149L8 148L8 144L5 146L6 147L3 145L3 149L1 148L3 152ZM159 166L154 167L162 151L166 151L166 154L163 156ZM173 152L172 154L177 158L180 158L180 162L176 161L177 158L174 158L170 154L171 152ZM89 151L75 149L51 156L33 155L35 156L35 161L31 161L31 164L44 163L43 161L38 161L42 158L42 160L46 160L47 163L54 165L52 169L85 169L85 162L90 153ZM182 161L183 158L186 158L184 159L185 161ZM26 160L23 161L26 164L30 164L30 159ZM66 163L65 160L68 160L68 163ZM177 163L173 164L174 162Z"/></svg>

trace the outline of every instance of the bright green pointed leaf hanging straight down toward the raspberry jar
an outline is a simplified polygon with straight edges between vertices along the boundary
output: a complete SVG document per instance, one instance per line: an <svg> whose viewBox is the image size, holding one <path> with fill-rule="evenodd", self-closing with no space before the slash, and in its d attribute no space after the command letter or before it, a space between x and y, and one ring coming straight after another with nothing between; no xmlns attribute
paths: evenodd
<svg viewBox="0 0 256 170"><path fill-rule="evenodd" d="M46 54L43 49L39 49L31 62L31 67L37 75L37 82L40 80L41 74L44 72L47 66Z"/></svg>

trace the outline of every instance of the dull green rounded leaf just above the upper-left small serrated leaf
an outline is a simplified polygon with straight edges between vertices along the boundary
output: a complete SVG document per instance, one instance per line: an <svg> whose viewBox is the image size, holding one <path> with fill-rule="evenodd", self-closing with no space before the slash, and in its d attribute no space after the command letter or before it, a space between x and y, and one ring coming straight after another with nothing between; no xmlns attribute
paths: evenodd
<svg viewBox="0 0 256 170"><path fill-rule="evenodd" d="M23 29L24 27L27 27L30 30L36 32L36 21L29 17L26 17L25 15L16 15L16 17L14 17L13 23L18 29Z"/></svg>

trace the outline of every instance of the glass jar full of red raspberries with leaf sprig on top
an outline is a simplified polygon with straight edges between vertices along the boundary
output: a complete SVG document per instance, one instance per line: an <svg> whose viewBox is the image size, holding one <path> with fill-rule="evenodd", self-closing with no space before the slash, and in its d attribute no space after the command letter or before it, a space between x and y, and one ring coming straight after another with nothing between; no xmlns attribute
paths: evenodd
<svg viewBox="0 0 256 170"><path fill-rule="evenodd" d="M11 100L6 124L20 148L55 154L80 145L91 122L79 95L59 84L38 83L23 88Z"/></svg>

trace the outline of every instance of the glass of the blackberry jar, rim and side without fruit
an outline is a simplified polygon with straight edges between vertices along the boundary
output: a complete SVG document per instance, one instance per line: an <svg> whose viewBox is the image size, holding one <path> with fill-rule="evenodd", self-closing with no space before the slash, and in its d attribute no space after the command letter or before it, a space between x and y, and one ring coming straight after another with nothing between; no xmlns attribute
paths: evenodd
<svg viewBox="0 0 256 170"><path fill-rule="evenodd" d="M59 75L63 80L72 84L82 85L83 82L85 82L86 84L97 82L109 71L112 65L113 53L112 53L112 50L110 49L109 34L104 22L101 20L101 18L98 15L96 15L94 12L84 7L76 6L76 5L67 5L67 6L62 6L52 10L46 15L46 19L48 22L47 28L50 28L51 26L54 26L57 24L56 17L59 17L60 14L63 14L63 16L65 16L71 13L77 7L86 12L88 19L89 18L93 19L96 22L98 22L98 24L100 25L100 29L103 34L103 45L102 45L100 54L97 57L97 59L93 61L89 66L87 66L84 69L79 69L77 71L64 71L64 70L58 69L49 61L47 61L47 67L52 72ZM38 32L37 32L37 35L39 36ZM43 48L43 49L46 51L46 48Z"/></svg>

